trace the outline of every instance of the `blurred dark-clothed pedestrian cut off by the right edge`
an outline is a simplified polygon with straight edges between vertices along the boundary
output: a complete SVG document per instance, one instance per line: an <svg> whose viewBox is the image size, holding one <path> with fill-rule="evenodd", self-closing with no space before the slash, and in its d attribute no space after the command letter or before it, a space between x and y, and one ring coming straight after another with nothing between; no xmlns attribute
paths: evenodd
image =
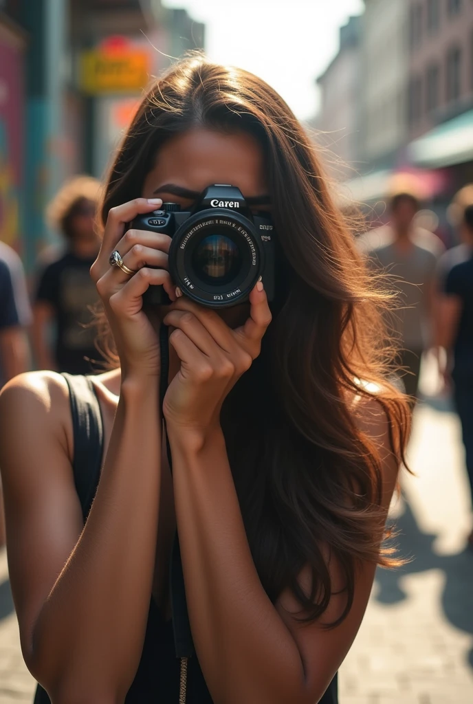
<svg viewBox="0 0 473 704"><path fill-rule="evenodd" d="M453 351L453 397L462 424L473 498L473 205L465 208L462 237L469 247L469 257L453 265L446 277L439 306L437 343L447 353ZM473 530L468 541L473 547Z"/></svg>

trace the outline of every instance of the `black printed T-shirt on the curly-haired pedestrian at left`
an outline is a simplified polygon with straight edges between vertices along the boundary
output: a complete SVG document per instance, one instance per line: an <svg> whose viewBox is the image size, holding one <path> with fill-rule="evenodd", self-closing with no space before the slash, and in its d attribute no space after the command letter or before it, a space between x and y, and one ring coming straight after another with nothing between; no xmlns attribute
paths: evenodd
<svg viewBox="0 0 473 704"><path fill-rule="evenodd" d="M96 330L89 327L89 309L98 301L89 273L93 263L94 259L66 252L47 265L39 279L36 300L49 303L56 318L55 356L60 372L91 374L89 359L102 360L94 345Z"/></svg>

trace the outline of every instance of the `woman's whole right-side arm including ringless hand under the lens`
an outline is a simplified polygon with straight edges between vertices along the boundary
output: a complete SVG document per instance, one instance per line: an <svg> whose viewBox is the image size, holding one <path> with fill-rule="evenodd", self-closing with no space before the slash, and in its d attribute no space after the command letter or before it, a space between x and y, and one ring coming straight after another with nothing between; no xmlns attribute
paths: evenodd
<svg viewBox="0 0 473 704"><path fill-rule="evenodd" d="M246 539L219 416L222 401L258 356L270 322L263 287L250 295L246 324L229 329L213 312L179 298L164 321L175 327L170 343L181 361L166 393L179 543L191 629L198 659L215 704L314 704L320 700L358 631L375 565L357 571L354 603L341 625L301 626L291 593L276 605L267 597ZM383 457L384 517L375 524L380 543L398 467L386 414L366 402L356 417ZM244 441L244 439L242 439ZM376 527L377 526L377 527ZM334 593L324 621L346 605L336 560L329 560ZM310 593L307 570L300 583ZM338 594L336 592L339 592ZM301 616L300 612L298 616Z"/></svg>

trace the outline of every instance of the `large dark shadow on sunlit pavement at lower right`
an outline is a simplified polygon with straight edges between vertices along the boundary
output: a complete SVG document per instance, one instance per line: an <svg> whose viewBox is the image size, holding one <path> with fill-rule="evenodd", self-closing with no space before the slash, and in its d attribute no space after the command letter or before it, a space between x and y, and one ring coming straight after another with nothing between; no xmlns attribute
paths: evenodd
<svg viewBox="0 0 473 704"><path fill-rule="evenodd" d="M377 601L384 604L403 601L407 595L399 580L405 574L434 568L443 570L446 574L442 594L443 613L455 628L473 634L473 551L465 548L456 555L436 555L432 550L436 535L423 533L419 529L407 501L403 515L396 518L394 523L398 531L396 543L399 553L412 558L412 562L398 570L377 570ZM469 664L473 667L473 650L469 653Z"/></svg>

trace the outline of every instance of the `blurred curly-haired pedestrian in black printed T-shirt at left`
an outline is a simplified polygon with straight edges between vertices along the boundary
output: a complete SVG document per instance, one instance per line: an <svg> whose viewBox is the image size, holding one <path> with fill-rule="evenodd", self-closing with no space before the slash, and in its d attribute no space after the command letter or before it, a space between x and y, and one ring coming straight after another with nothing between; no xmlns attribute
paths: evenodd
<svg viewBox="0 0 473 704"><path fill-rule="evenodd" d="M91 360L101 360L96 333L89 327L90 309L97 301L89 270L100 249L98 198L99 182L78 176L65 184L46 212L49 225L63 235L65 253L46 265L35 295L33 345L40 369L86 374L93 371Z"/></svg>

